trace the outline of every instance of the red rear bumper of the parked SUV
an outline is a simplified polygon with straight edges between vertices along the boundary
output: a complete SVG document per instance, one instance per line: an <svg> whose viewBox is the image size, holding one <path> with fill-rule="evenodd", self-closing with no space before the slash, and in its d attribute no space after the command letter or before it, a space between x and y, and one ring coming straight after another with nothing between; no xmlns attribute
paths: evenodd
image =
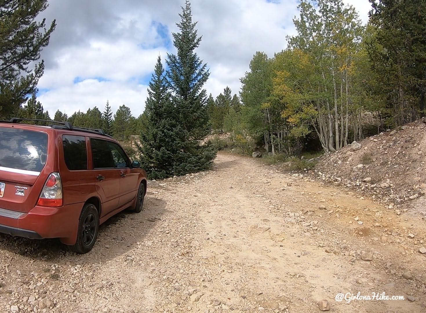
<svg viewBox="0 0 426 313"><path fill-rule="evenodd" d="M37 239L74 238L82 207L82 203L55 208L35 206L17 218L3 212L0 214L0 233Z"/></svg>

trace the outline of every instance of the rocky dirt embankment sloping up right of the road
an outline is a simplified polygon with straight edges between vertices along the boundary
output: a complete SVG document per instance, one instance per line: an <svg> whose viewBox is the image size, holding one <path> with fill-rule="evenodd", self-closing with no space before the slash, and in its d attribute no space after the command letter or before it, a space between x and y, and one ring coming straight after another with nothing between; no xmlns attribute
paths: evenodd
<svg viewBox="0 0 426 313"><path fill-rule="evenodd" d="M360 141L319 158L322 181L348 187L391 210L426 213L426 119ZM410 202L409 206L404 205Z"/></svg>

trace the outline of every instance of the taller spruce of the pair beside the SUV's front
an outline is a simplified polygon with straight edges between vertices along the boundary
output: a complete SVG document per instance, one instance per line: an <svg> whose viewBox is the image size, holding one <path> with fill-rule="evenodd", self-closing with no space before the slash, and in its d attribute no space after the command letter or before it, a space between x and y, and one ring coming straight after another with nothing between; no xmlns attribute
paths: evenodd
<svg viewBox="0 0 426 313"><path fill-rule="evenodd" d="M173 44L177 55L167 54L166 73L175 108L173 119L182 129L181 141L174 155L173 173L182 175L205 170L210 167L215 152L210 146L199 142L208 134L207 93L203 89L209 78L207 63L194 51L201 43L196 24L192 21L191 4L185 1L181 21L177 23L180 32L173 33ZM171 174L171 173L170 173Z"/></svg>

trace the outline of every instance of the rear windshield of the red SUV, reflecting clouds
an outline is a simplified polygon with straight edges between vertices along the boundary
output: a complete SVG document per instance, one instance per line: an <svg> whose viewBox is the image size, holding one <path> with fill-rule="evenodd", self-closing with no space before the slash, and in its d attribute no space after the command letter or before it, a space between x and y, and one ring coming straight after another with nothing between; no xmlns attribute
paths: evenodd
<svg viewBox="0 0 426 313"><path fill-rule="evenodd" d="M40 172L46 159L46 133L0 127L0 169Z"/></svg>

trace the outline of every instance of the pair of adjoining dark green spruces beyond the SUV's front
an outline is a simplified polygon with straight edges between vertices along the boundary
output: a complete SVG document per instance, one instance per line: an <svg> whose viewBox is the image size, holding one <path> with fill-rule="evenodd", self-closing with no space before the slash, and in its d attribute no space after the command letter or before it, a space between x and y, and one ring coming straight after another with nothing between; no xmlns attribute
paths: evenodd
<svg viewBox="0 0 426 313"><path fill-rule="evenodd" d="M210 73L194 51L201 37L189 1L179 16L179 32L173 33L177 54L167 55L165 75L158 58L146 101L147 132L141 134L139 151L150 178L205 170L216 156L210 145L200 145L209 132L203 86Z"/></svg>

